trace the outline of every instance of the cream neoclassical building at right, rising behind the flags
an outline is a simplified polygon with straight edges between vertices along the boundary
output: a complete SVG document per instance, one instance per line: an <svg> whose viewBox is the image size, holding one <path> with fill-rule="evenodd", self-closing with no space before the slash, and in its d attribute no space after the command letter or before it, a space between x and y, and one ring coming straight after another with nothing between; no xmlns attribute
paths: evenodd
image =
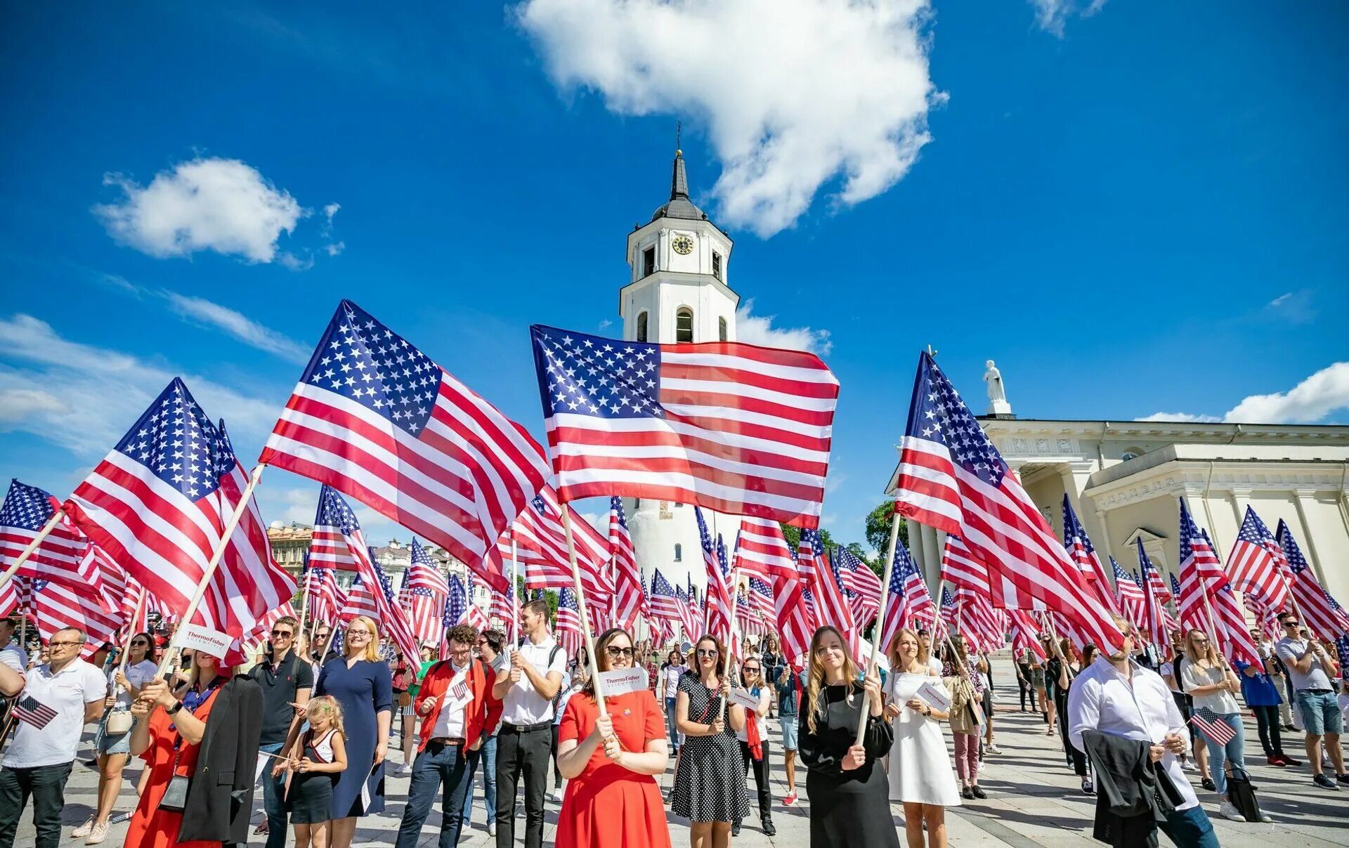
<svg viewBox="0 0 1349 848"><path fill-rule="evenodd" d="M1051 421L1017 418L1005 400L979 421L1060 538L1068 496L1102 561L1112 554L1137 570L1141 538L1152 562L1175 573L1182 497L1226 561L1249 506L1271 531L1286 520L1322 585L1349 599L1349 426ZM943 543L911 524L929 586Z"/></svg>

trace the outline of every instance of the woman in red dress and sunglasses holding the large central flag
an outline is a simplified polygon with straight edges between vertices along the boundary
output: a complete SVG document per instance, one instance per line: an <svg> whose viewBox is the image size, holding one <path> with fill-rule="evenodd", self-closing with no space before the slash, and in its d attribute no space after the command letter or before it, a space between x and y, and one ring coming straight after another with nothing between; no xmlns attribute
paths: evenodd
<svg viewBox="0 0 1349 848"><path fill-rule="evenodd" d="M595 642L600 671L633 667L627 631L606 631ZM595 704L595 681L567 702L557 731L557 768L567 794L557 813L556 848L669 848L665 802L657 774L669 751L665 717L650 689L606 697L608 715Z"/></svg>

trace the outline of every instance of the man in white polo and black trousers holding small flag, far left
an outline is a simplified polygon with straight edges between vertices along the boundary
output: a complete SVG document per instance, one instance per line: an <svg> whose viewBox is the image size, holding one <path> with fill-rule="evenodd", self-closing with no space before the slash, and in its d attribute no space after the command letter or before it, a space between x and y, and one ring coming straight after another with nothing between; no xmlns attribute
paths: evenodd
<svg viewBox="0 0 1349 848"><path fill-rule="evenodd" d="M19 720L0 763L0 848L13 845L28 795L38 830L35 848L57 848L61 841L66 778L80 733L98 720L108 696L103 673L80 659L85 639L84 631L73 627L51 634L50 662L28 671L15 701Z"/></svg>

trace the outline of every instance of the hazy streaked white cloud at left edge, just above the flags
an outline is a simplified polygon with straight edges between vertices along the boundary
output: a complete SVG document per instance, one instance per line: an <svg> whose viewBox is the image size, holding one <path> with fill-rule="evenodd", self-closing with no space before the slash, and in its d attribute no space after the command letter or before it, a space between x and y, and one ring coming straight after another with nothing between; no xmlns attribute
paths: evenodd
<svg viewBox="0 0 1349 848"><path fill-rule="evenodd" d="M32 315L0 318L0 430L26 431L84 457L107 453L163 387L181 372L120 351L69 341ZM247 464L279 413L262 400L200 376L181 375L216 418L224 415ZM3 400L0 400L3 403Z"/></svg>

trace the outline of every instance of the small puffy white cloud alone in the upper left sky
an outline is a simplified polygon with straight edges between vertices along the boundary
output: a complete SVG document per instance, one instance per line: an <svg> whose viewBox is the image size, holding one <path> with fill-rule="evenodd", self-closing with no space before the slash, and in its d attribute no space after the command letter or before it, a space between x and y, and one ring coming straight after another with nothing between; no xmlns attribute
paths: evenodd
<svg viewBox="0 0 1349 848"><path fill-rule="evenodd" d="M161 259L216 251L272 262L281 233L291 233L306 214L290 193L237 159L182 162L143 187L116 174L104 183L125 193L123 202L93 209L108 235Z"/></svg>

